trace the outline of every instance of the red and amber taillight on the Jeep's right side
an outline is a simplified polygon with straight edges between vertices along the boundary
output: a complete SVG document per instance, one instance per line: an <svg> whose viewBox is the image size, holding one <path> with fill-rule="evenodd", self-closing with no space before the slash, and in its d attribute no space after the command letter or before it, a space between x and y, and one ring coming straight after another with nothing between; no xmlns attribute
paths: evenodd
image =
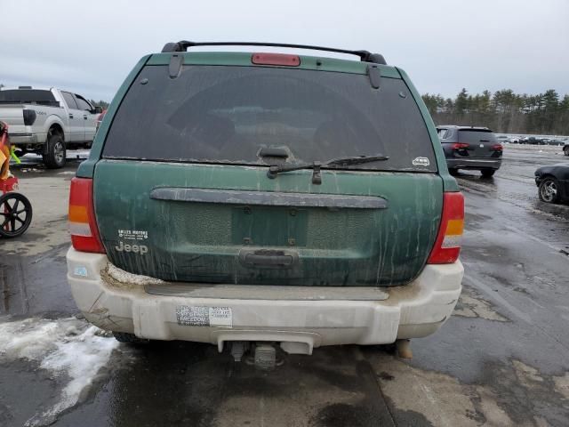
<svg viewBox="0 0 569 427"><path fill-rule="evenodd" d="M463 230L464 196L459 192L444 193L443 217L428 263L449 264L458 260Z"/></svg>

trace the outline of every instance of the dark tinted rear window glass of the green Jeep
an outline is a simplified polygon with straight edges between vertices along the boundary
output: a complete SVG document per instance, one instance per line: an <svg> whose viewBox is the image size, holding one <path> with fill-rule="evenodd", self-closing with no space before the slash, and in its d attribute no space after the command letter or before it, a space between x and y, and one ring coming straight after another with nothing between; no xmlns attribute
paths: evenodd
<svg viewBox="0 0 569 427"><path fill-rule="evenodd" d="M383 154L371 170L436 171L417 104L403 80L290 68L143 68L108 132L103 157L266 165L261 148L290 163ZM421 158L422 157L422 158ZM420 160L417 160L420 159Z"/></svg>

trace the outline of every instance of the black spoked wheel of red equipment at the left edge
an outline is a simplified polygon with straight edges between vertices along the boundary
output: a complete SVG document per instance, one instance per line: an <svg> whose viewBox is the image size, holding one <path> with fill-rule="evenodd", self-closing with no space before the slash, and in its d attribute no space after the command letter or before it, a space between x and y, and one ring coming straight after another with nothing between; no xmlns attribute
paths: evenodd
<svg viewBox="0 0 569 427"><path fill-rule="evenodd" d="M28 230L32 222L32 205L20 193L0 196L0 237L17 238Z"/></svg>

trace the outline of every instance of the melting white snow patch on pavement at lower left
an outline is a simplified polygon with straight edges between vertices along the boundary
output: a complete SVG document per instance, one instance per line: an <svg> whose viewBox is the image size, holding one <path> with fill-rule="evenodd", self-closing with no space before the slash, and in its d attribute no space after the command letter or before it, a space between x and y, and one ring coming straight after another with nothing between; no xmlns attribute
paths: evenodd
<svg viewBox="0 0 569 427"><path fill-rule="evenodd" d="M67 375L69 379L60 401L34 415L26 425L49 425L60 412L73 407L118 345L98 327L77 318L27 318L0 323L0 361L34 360L54 378Z"/></svg>

